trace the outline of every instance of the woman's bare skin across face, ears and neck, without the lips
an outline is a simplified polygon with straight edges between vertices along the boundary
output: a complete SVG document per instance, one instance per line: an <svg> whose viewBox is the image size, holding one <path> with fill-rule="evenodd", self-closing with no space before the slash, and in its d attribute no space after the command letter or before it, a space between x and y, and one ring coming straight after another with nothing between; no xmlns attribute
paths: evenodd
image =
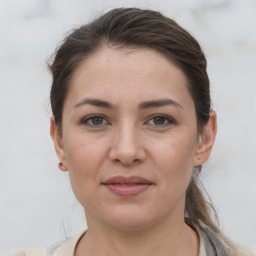
<svg viewBox="0 0 256 256"><path fill-rule="evenodd" d="M93 114L99 117L90 119ZM103 47L84 60L70 83L62 137L51 119L61 169L69 171L87 217L76 256L198 255L198 237L184 222L185 192L215 135L214 112L198 134L186 77L162 54ZM102 185L117 175L141 176L153 185L118 196Z"/></svg>

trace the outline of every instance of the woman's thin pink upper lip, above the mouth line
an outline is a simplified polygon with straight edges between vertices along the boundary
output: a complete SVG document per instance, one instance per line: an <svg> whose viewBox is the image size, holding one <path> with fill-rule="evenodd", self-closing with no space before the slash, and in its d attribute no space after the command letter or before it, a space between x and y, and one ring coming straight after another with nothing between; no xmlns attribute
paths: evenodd
<svg viewBox="0 0 256 256"><path fill-rule="evenodd" d="M104 182L102 182L102 184L153 184L153 182L140 176L114 176L110 179L105 180Z"/></svg>

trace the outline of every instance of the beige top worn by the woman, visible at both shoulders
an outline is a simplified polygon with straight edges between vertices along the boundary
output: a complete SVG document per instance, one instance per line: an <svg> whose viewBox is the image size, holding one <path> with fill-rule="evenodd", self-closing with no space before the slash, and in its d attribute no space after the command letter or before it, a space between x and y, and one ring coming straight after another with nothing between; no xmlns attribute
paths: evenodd
<svg viewBox="0 0 256 256"><path fill-rule="evenodd" d="M202 232L199 228L196 228L196 231L198 233L199 242L200 242L199 256L206 256L204 238L203 238ZM64 242L61 246L58 247L58 249L54 252L53 255L47 255L46 248L44 247L34 247L34 248L29 248L25 250L25 252L22 252L15 256L73 256L76 245L78 244L83 234L84 232ZM240 245L237 243L233 243L233 245L236 249L236 252L233 253L231 250L228 249L227 253L229 256L256 256L255 252L253 252L252 250L248 249L243 245Z"/></svg>

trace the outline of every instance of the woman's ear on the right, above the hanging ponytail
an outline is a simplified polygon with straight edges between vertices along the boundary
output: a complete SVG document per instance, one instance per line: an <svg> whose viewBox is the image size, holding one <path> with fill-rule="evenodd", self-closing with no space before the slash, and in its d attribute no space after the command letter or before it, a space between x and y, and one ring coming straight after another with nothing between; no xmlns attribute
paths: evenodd
<svg viewBox="0 0 256 256"><path fill-rule="evenodd" d="M208 123L203 127L198 137L198 145L194 156L194 166L204 164L210 156L217 133L217 116L214 111L210 112Z"/></svg>

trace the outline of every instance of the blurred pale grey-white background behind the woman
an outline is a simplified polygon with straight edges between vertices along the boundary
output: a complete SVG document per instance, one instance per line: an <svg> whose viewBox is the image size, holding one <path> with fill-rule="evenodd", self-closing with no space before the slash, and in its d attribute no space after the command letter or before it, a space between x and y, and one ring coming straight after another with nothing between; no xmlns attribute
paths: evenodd
<svg viewBox="0 0 256 256"><path fill-rule="evenodd" d="M74 27L114 7L163 12L208 58L218 135L202 180L232 239L256 249L255 0L0 0L0 255L86 228L49 136L46 60Z"/></svg>

